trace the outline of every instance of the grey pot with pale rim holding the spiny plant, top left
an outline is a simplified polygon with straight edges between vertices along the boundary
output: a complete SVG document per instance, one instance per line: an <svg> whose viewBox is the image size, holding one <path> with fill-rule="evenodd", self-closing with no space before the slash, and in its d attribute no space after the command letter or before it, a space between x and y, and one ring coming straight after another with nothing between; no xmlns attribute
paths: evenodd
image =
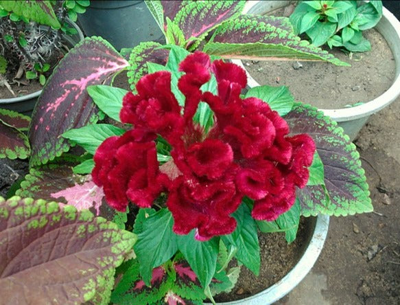
<svg viewBox="0 0 400 305"><path fill-rule="evenodd" d="M69 47L73 47L74 45L82 41L84 39L84 36L76 23L70 20L67 20L67 23L69 23L71 27L77 30L78 33L72 36L64 34L62 35L62 39L67 43ZM42 93L42 90L16 98L0 99L0 108L16 111L25 115L31 115L40 93Z"/></svg>

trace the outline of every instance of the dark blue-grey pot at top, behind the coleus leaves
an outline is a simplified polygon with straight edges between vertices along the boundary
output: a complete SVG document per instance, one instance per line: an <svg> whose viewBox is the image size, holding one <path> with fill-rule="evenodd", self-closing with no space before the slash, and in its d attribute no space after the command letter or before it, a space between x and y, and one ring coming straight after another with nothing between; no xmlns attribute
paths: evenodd
<svg viewBox="0 0 400 305"><path fill-rule="evenodd" d="M78 22L86 36L102 36L118 50L163 39L144 1L91 1Z"/></svg>

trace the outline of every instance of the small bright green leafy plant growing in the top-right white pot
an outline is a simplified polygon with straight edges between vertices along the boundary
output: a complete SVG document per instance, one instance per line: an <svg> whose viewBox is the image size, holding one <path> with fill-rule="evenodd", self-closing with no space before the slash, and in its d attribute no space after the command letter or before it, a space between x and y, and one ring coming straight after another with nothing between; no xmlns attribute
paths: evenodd
<svg viewBox="0 0 400 305"><path fill-rule="evenodd" d="M331 48L366 52L370 50L370 42L362 36L362 31L375 27L381 16L380 0L301 1L290 15L290 22L296 34L307 34L318 47L326 43Z"/></svg>

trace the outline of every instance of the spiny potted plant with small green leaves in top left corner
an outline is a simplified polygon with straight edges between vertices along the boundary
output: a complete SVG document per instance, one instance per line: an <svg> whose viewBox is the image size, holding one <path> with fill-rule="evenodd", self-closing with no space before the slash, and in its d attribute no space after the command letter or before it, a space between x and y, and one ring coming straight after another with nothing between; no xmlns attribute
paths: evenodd
<svg viewBox="0 0 400 305"><path fill-rule="evenodd" d="M32 112L58 60L83 39L73 21L84 5L89 1L0 1L0 82L8 93L1 96L0 108ZM27 87L30 82L36 84L32 92L17 91L16 84Z"/></svg>

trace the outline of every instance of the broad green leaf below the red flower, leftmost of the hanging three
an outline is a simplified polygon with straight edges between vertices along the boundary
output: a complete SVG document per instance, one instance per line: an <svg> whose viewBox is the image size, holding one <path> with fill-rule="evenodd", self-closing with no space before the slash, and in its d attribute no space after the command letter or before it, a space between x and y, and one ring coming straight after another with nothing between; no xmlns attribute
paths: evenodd
<svg viewBox="0 0 400 305"><path fill-rule="evenodd" d="M178 250L176 235L172 232L173 223L174 218L171 212L161 209L145 219L143 230L138 234L134 253L139 260L143 282L148 286L150 286L152 270L172 258Z"/></svg>

